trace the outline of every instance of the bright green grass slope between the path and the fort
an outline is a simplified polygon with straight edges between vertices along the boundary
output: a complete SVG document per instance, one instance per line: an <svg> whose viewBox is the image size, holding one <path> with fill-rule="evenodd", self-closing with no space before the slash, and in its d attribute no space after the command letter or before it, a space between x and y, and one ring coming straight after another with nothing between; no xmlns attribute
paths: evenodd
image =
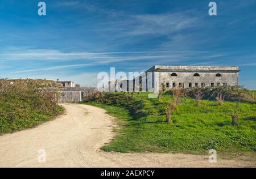
<svg viewBox="0 0 256 179"><path fill-rule="evenodd" d="M166 122L164 106L158 99L149 99L147 92L115 92L101 102L85 104L100 106L116 117L121 126L104 151L116 152L188 152L205 154L209 149L229 154L255 154L256 104L241 103L238 125L232 125L231 114L236 102L217 105L216 101L184 98ZM167 100L169 95L163 95ZM127 101L129 97L129 101Z"/></svg>

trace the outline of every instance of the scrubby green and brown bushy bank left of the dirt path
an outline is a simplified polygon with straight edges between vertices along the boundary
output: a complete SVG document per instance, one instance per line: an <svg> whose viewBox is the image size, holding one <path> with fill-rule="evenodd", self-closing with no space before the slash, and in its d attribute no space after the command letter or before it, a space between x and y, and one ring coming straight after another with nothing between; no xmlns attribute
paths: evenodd
<svg viewBox="0 0 256 179"><path fill-rule="evenodd" d="M34 80L0 79L0 134L34 127L64 112L54 93L42 91Z"/></svg>

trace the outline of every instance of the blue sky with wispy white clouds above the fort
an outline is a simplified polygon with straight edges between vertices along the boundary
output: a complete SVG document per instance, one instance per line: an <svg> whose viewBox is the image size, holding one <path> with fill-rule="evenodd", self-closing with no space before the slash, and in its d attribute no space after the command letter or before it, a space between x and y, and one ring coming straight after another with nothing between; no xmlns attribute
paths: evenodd
<svg viewBox="0 0 256 179"><path fill-rule="evenodd" d="M41 0L42 1L42 0ZM72 80L154 65L239 66L256 89L256 0L0 1L0 76Z"/></svg>

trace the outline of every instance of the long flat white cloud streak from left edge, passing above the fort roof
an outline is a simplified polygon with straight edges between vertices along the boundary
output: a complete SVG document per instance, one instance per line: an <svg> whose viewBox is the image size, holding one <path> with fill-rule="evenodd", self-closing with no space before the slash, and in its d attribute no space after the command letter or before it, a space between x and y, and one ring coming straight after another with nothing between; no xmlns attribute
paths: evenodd
<svg viewBox="0 0 256 179"><path fill-rule="evenodd" d="M5 60L19 60L19 59L33 59L33 60L47 60L47 59L113 59L118 60L133 60L133 59L145 59L145 58L168 58L174 57L175 54L188 54L188 53L210 53L207 51L140 51L140 52L72 52L65 53L59 50L53 49L33 49L23 50L20 52L12 53L0 53L0 59ZM134 56L134 54L136 56ZM143 55L141 55L143 54ZM161 54L161 55L159 55ZM164 54L164 55L162 55ZM113 56L114 55L114 56ZM120 56L122 55L122 56ZM125 56L123 56L125 55ZM177 56L175 56L177 57ZM109 61L111 62L111 61Z"/></svg>

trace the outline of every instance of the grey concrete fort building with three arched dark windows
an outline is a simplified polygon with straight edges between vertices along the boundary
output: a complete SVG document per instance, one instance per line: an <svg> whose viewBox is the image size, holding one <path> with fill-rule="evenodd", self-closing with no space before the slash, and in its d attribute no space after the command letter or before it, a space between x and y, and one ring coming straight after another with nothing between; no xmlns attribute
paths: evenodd
<svg viewBox="0 0 256 179"><path fill-rule="evenodd" d="M133 80L116 81L117 91L158 91L170 88L238 86L237 66L155 65Z"/></svg>

